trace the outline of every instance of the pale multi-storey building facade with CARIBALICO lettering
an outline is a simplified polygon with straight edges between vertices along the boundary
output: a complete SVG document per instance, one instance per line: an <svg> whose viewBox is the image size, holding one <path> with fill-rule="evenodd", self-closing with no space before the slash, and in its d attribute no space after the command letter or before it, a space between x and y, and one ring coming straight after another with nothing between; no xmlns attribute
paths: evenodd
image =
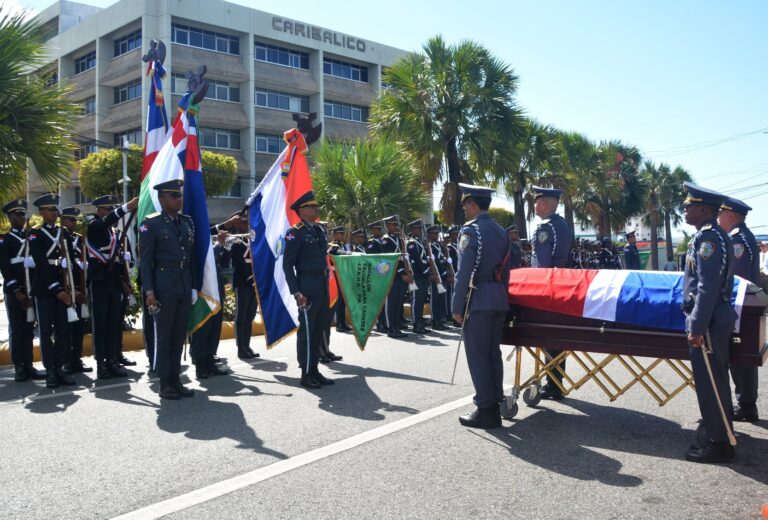
<svg viewBox="0 0 768 520"><path fill-rule="evenodd" d="M242 207L282 150L293 113L316 112L328 138L367 134L381 71L404 51L221 0L119 0L105 9L59 0L37 19L49 29L50 77L83 106L83 158L99 146L142 144L149 81L141 57L166 44L166 110L176 112L185 73L206 65L210 88L198 127L204 149L233 156L238 180L209 198L212 219ZM44 188L30 181L33 194ZM83 202L76 173L62 204Z"/></svg>

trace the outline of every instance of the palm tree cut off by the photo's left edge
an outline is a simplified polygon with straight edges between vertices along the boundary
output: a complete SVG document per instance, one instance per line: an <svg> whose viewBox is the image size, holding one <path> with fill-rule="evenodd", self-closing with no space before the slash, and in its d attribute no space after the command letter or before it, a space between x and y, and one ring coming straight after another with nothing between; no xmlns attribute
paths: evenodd
<svg viewBox="0 0 768 520"><path fill-rule="evenodd" d="M40 71L44 29L0 7L0 197L20 194L29 163L49 187L69 179L77 106Z"/></svg>

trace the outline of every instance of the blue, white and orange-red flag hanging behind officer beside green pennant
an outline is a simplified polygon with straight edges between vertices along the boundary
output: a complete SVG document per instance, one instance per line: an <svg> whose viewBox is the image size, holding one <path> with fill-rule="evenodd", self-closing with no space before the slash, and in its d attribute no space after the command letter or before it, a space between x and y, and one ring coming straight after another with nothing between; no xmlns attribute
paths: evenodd
<svg viewBox="0 0 768 520"><path fill-rule="evenodd" d="M287 147L246 202L249 208L253 275L264 321L267 348L296 330L299 310L283 272L285 234L299 221L291 205L312 189L307 145L296 129L283 134ZM336 280L329 277L330 303L338 298Z"/></svg>

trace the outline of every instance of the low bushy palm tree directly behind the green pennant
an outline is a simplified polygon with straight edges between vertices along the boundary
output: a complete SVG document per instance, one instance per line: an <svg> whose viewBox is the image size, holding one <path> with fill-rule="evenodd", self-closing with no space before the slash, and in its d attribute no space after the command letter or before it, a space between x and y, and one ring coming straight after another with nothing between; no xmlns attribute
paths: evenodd
<svg viewBox="0 0 768 520"><path fill-rule="evenodd" d="M315 193L334 224L358 228L392 214L417 218L429 209L416 161L397 143L321 141L310 153Z"/></svg>

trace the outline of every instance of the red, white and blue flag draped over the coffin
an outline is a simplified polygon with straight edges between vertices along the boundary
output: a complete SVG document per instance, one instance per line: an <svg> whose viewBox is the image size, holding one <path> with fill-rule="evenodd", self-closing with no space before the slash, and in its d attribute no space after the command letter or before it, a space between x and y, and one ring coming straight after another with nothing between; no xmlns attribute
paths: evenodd
<svg viewBox="0 0 768 520"><path fill-rule="evenodd" d="M739 319L748 285L734 277L731 304ZM509 302L569 316L685 331L683 274L679 272L513 269Z"/></svg>

